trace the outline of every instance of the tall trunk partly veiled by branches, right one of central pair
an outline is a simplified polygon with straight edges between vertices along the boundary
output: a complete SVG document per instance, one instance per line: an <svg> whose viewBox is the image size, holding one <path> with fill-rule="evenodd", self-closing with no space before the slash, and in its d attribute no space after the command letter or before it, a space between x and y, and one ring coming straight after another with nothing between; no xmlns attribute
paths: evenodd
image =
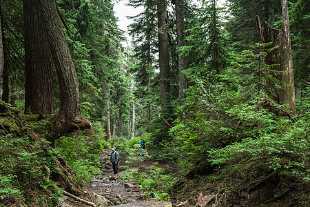
<svg viewBox="0 0 310 207"><path fill-rule="evenodd" d="M183 0L176 0L176 39L178 41L178 102L183 105L186 97L184 90L187 88L187 79L183 70L187 68L187 59L185 55L181 55L180 48L185 46L184 32L184 6Z"/></svg>

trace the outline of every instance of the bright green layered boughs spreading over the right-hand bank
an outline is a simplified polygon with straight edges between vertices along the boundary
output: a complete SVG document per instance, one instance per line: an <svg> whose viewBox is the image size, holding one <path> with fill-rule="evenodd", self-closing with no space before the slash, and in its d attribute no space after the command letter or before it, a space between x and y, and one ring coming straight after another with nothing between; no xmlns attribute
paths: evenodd
<svg viewBox="0 0 310 207"><path fill-rule="evenodd" d="M246 115L247 116L247 115ZM305 181L309 177L309 116L296 122L284 118L260 116L269 128L258 128L257 135L242 139L225 148L209 150L212 164L236 163L248 157L255 164L262 162L267 168L281 170ZM272 120L272 121L271 121Z"/></svg>

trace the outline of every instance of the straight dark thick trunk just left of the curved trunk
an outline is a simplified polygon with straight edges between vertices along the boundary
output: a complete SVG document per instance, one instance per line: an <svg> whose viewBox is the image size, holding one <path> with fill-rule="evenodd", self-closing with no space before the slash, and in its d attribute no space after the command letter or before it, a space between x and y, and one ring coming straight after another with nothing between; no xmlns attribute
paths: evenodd
<svg viewBox="0 0 310 207"><path fill-rule="evenodd" d="M49 33L43 2L24 0L25 22L25 111L53 114L53 69ZM50 20L49 20L50 21Z"/></svg>

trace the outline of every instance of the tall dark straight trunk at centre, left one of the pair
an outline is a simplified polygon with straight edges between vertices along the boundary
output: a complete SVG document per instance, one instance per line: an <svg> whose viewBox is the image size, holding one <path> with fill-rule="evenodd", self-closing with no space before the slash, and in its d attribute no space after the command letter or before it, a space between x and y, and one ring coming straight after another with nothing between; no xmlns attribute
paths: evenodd
<svg viewBox="0 0 310 207"><path fill-rule="evenodd" d="M161 109L167 111L170 101L170 70L169 48L167 32L167 0L157 1L158 9L158 50L159 50L159 73L161 79Z"/></svg>

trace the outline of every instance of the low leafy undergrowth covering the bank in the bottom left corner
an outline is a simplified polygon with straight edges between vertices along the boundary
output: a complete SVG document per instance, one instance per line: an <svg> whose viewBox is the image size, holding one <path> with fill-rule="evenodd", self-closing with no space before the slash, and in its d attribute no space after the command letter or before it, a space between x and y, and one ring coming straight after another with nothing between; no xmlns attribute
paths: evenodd
<svg viewBox="0 0 310 207"><path fill-rule="evenodd" d="M0 206L6 196L12 196L22 204L55 206L61 195L56 183L47 179L43 167L55 169L52 150L43 142L32 140L25 128L23 137L0 135ZM42 199L34 199L37 197Z"/></svg>

